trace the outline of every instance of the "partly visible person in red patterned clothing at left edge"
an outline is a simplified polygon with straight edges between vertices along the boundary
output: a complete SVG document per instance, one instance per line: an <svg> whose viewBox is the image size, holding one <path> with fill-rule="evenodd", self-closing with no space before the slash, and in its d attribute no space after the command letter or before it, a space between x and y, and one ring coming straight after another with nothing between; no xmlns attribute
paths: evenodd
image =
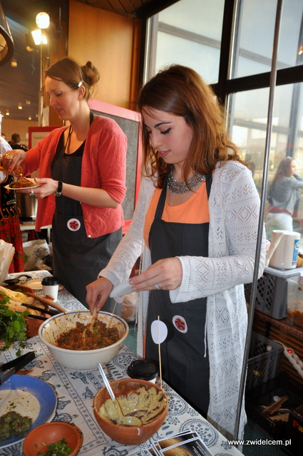
<svg viewBox="0 0 303 456"><path fill-rule="evenodd" d="M0 157L11 150L4 138L0 137ZM13 244L14 257L9 266L9 274L24 271L22 236L19 222L19 209L16 205L14 190L5 187L14 180L7 172L0 171L0 239Z"/></svg>

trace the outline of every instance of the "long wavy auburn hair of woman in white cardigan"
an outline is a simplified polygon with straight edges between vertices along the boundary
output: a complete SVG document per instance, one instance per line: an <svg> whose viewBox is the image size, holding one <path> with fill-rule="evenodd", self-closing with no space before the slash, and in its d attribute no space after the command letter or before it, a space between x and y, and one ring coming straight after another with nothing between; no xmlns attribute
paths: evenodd
<svg viewBox="0 0 303 456"><path fill-rule="evenodd" d="M188 182L190 172L210 174L217 162L236 160L242 163L237 146L225 128L225 112L210 86L191 68L173 65L160 71L140 90L138 108L165 111L179 115L192 128L192 142L183 166L183 177ZM158 156L150 144L144 122L143 172L163 187L171 165Z"/></svg>

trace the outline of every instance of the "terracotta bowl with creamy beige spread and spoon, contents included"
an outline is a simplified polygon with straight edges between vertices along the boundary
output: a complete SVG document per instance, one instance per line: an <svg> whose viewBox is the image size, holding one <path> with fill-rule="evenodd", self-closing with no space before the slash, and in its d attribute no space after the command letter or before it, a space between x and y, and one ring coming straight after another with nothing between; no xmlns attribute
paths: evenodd
<svg viewBox="0 0 303 456"><path fill-rule="evenodd" d="M163 390L146 380L111 382L115 402L104 386L93 399L93 413L103 432L123 445L140 445L163 425L168 400Z"/></svg>

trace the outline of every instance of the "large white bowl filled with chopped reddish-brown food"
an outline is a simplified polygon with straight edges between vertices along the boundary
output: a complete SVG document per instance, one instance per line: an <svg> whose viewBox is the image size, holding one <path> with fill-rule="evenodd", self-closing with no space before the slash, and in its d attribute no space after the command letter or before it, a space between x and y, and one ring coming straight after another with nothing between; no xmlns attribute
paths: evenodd
<svg viewBox="0 0 303 456"><path fill-rule="evenodd" d="M88 310L79 310L58 314L42 322L38 336L61 366L75 371L93 371L97 368L98 363L109 363L118 354L120 346L128 336L128 323L120 316L100 311L97 314L95 329L91 333L88 329L91 324L91 318L92 316ZM108 337L108 331L103 331L102 326L104 325L101 323L105 323L106 328L109 326L111 330L114 330L117 337L114 338L112 333L111 337ZM87 329L85 346L83 346L83 330L85 328ZM71 330L75 331L75 329L78 335L74 334L67 338L64 336L64 338L61 338L61 342L59 341L59 338L64 333L66 334ZM78 347L76 347L76 338L78 338ZM118 340L111 343L108 340L109 338L111 338L111 341L117 338ZM105 339L106 346L95 348L96 339L102 339L103 342ZM68 348L62 348L58 346L58 343Z"/></svg>

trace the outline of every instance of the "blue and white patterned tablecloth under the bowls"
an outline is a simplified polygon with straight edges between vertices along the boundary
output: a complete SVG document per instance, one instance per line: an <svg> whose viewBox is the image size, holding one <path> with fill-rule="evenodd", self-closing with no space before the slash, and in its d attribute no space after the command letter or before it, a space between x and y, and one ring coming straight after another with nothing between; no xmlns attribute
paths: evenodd
<svg viewBox="0 0 303 456"><path fill-rule="evenodd" d="M33 279L46 276L47 271L34 271L30 273ZM14 276L15 274L11 274ZM64 309L82 308L68 291L61 290L58 295L58 304ZM16 346L0 352L0 364L15 358ZM168 397L168 415L160 430L153 435L152 439L139 446L125 446L111 440L105 435L93 415L93 397L103 387L103 380L98 369L94 371L71 371L58 364L41 343L38 336L28 339L26 351L36 351L37 356L26 366L32 369L30 375L44 380L56 391L58 405L55 421L65 421L78 426L83 432L83 445L78 456L150 456L148 448L151 442L167 436L175 435L185 430L197 431L202 440L214 456L241 455L215 427L210 425L201 415L188 405L168 385L163 383L163 389ZM126 370L135 355L126 346L121 346L117 356L106 365L108 380L118 380L128 377ZM3 387L1 387L3 388ZM21 456L22 442L1 448L0 456Z"/></svg>

